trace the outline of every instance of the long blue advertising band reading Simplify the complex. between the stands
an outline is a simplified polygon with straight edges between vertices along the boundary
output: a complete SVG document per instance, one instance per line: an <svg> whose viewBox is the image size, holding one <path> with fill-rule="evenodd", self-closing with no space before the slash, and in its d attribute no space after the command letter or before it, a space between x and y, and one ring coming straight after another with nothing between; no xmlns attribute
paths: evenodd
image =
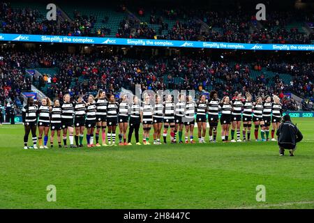
<svg viewBox="0 0 314 223"><path fill-rule="evenodd" d="M7 34L7 33L0 33L0 41L129 45L147 47L189 47L208 49L285 50L285 51L314 50L314 45L297 45L297 44L295 45L295 44L223 43L223 42L202 42L184 40L148 40L127 38L83 37L83 36L46 36L46 35Z"/></svg>

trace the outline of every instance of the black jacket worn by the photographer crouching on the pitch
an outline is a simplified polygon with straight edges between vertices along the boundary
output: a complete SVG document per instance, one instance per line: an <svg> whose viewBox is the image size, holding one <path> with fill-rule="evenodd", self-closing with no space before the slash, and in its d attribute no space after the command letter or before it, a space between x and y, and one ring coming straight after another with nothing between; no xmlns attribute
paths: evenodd
<svg viewBox="0 0 314 223"><path fill-rule="evenodd" d="M278 144L292 144L295 146L297 142L303 139L303 135L296 125L290 121L281 123L277 130Z"/></svg>

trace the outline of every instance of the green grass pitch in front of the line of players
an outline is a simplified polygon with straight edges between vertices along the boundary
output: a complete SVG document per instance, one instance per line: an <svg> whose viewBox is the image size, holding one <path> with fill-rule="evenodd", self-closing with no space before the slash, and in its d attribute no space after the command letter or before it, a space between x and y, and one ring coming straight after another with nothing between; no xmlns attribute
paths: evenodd
<svg viewBox="0 0 314 223"><path fill-rule="evenodd" d="M292 121L294 157L271 141L223 144L220 128L217 144L24 150L23 126L2 125L0 208L314 208L314 118Z"/></svg>

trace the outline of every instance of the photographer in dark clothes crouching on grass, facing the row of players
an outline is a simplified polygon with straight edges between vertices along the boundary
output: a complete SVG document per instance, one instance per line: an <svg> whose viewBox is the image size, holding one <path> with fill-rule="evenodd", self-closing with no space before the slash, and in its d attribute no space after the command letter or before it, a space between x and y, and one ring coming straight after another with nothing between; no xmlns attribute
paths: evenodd
<svg viewBox="0 0 314 223"><path fill-rule="evenodd" d="M297 142L303 139L303 135L296 125L291 122L288 114L283 116L283 123L277 130L279 155L284 155L285 149L290 151L290 156L293 156L296 150Z"/></svg>

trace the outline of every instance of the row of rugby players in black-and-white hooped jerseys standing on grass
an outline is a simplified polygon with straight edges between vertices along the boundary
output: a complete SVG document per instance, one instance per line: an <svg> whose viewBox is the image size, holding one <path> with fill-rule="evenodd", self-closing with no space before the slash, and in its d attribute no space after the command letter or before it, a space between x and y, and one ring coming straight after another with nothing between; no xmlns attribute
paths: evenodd
<svg viewBox="0 0 314 223"><path fill-rule="evenodd" d="M154 100L154 103L151 103L151 100ZM140 102L137 96L128 98L127 95L122 95L120 101L117 102L114 95L107 96L103 90L98 91L96 98L89 95L87 102L84 102L82 97L71 100L68 94L63 96L63 102L54 100L53 105L49 98L43 98L40 105L36 105L33 98L28 98L27 105L22 109L25 131L24 149L38 148L37 146L48 148L49 131L50 147L54 146L55 134L57 134L59 148L68 147L67 136L71 148L82 147L85 129L87 129L87 147L117 146L115 141L118 125L119 145L132 145L133 132L135 143L141 145L139 139L141 124L143 128L142 143L144 145L150 144L151 128L154 130L154 144L162 144L161 134L163 134L163 144L167 144L168 132L170 132L172 144L177 142L179 144L194 144L195 123L198 142L205 143L207 121L209 123L209 140L216 142L218 112L221 114L220 125L223 142L230 140L230 128L230 141L251 141L252 125L255 128L256 141L269 141L270 125L272 125L271 140L276 141L274 133L279 128L283 115L278 96L274 95L273 98L266 96L264 99L257 96L253 102L250 93L246 93L246 98L243 98L241 93L235 93L234 98L225 96L219 100L217 92L211 91L208 100L205 95L200 95L196 102L190 95L184 94L179 94L177 102L174 102L172 95L166 95L165 101L163 101L161 96L157 94L153 96L144 95L143 102ZM243 123L242 139L241 123ZM259 128L261 139L258 138ZM33 139L33 146L31 147L27 146L30 132ZM61 145L61 133L63 146ZM182 139L183 134L184 140Z"/></svg>

